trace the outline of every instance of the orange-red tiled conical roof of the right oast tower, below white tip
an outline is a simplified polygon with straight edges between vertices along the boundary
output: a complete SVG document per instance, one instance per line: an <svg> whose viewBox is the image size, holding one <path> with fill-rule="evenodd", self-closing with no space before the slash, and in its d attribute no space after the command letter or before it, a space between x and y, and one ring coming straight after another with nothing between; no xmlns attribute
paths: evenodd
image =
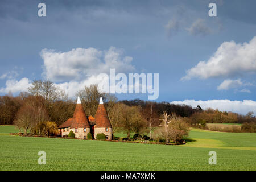
<svg viewBox="0 0 256 182"><path fill-rule="evenodd" d="M95 114L95 122L96 125L94 127L112 127L103 104L98 105L98 109Z"/></svg>

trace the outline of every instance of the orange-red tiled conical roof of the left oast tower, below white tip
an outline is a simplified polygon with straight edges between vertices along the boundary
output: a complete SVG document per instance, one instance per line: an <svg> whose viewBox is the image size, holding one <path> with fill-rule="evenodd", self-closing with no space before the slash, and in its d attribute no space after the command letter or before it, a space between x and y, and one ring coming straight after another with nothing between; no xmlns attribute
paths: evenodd
<svg viewBox="0 0 256 182"><path fill-rule="evenodd" d="M86 117L82 104L77 104L73 115L73 122L71 128L88 128L90 127L89 121Z"/></svg>

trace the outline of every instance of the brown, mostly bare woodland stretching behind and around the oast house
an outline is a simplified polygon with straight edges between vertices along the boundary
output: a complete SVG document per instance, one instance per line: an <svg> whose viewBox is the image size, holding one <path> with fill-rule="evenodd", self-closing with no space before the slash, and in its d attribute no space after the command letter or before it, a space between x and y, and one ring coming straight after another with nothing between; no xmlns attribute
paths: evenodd
<svg viewBox="0 0 256 182"><path fill-rule="evenodd" d="M222 112L213 109L201 109L200 106L192 108L188 105L174 105L169 102L151 102L142 100L123 100L113 94L101 93L97 85L85 86L76 93L82 101L87 115L94 117L100 97L112 123L113 133L118 130L125 131L127 138L136 136L149 136L150 139L168 138L178 140L178 135L186 135L188 126L204 126L205 123L255 123L253 113L241 115L232 112ZM64 90L51 81L36 80L28 88L28 92L21 92L14 97L11 94L0 96L0 124L17 125L25 133L56 134L57 126L72 118L76 106L76 99L72 100ZM163 119L170 121L166 126L155 130L163 123ZM172 122L171 122L172 121ZM179 123L179 125L175 124ZM164 129L163 129L164 128ZM168 129L168 130L167 130ZM154 131L153 131L154 130ZM179 132L180 131L180 132ZM181 132L182 131L182 132ZM176 134L176 139L174 139ZM169 138L170 138L169 136ZM167 139L168 140L168 139Z"/></svg>

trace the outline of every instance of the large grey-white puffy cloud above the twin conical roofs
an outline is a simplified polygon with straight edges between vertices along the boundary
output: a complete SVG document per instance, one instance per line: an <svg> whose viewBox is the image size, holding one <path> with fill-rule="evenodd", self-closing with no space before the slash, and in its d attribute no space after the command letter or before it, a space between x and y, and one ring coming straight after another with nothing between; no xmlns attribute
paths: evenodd
<svg viewBox="0 0 256 182"><path fill-rule="evenodd" d="M51 81L83 81L100 73L134 70L129 56L123 56L123 50L110 47L107 51L96 48L76 48L68 52L56 52L43 49L43 76Z"/></svg>

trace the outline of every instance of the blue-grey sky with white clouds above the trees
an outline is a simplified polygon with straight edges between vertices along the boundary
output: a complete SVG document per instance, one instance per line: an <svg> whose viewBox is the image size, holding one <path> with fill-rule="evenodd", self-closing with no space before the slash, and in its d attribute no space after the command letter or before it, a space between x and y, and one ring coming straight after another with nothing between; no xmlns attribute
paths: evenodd
<svg viewBox="0 0 256 182"><path fill-rule="evenodd" d="M212 2L217 16L210 17ZM255 7L253 0L2 0L0 95L42 79L74 98L114 68L159 73L158 102L256 113Z"/></svg>

